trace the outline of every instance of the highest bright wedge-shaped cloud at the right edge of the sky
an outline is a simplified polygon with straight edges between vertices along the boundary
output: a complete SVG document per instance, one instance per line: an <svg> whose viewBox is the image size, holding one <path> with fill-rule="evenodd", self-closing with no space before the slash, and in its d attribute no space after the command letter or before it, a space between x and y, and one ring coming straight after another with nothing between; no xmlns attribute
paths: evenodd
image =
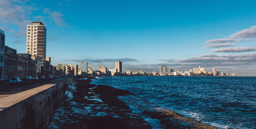
<svg viewBox="0 0 256 129"><path fill-rule="evenodd" d="M250 29L244 29L229 36L230 38L256 37L256 26L253 25Z"/></svg>

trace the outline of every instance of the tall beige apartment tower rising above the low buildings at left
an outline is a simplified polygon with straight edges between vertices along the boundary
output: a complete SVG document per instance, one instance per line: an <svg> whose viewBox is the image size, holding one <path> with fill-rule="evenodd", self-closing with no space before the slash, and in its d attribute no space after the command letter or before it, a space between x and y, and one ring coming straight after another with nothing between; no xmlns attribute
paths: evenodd
<svg viewBox="0 0 256 129"><path fill-rule="evenodd" d="M32 21L27 25L28 54L38 56L42 61L46 60L46 27L42 22Z"/></svg>

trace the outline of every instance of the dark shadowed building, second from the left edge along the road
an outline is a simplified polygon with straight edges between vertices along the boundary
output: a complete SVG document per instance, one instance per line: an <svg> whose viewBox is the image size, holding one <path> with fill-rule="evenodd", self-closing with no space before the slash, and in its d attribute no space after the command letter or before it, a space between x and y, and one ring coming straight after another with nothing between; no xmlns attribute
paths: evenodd
<svg viewBox="0 0 256 129"><path fill-rule="evenodd" d="M16 76L17 70L17 50L11 47L5 46L5 79L10 79Z"/></svg>

